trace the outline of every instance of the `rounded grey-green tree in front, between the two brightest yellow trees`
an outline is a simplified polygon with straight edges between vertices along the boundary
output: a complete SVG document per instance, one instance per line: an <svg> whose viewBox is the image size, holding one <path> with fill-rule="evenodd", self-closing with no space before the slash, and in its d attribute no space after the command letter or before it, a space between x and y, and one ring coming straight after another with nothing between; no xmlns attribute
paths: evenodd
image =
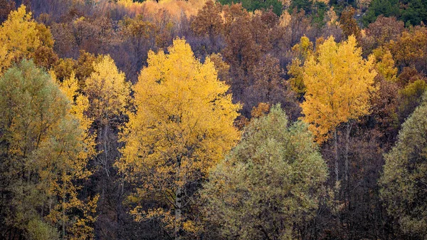
<svg viewBox="0 0 427 240"><path fill-rule="evenodd" d="M326 179L307 125L289 125L275 105L213 168L201 193L206 221L224 239L297 239L295 225L315 214Z"/></svg>

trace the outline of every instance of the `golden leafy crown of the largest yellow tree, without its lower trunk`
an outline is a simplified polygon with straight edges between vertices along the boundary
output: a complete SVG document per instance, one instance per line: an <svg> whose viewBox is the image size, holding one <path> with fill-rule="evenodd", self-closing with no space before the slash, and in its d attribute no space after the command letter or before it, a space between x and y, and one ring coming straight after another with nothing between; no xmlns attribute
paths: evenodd
<svg viewBox="0 0 427 240"><path fill-rule="evenodd" d="M127 142L119 163L123 170L126 165L137 171L151 166L159 175L154 179L167 179L179 158L183 169L178 177L191 179L196 171L206 174L238 140L233 120L240 106L231 103L214 63L199 63L184 40L174 40L168 55L150 51L134 90L137 113L130 115L122 135Z"/></svg>

